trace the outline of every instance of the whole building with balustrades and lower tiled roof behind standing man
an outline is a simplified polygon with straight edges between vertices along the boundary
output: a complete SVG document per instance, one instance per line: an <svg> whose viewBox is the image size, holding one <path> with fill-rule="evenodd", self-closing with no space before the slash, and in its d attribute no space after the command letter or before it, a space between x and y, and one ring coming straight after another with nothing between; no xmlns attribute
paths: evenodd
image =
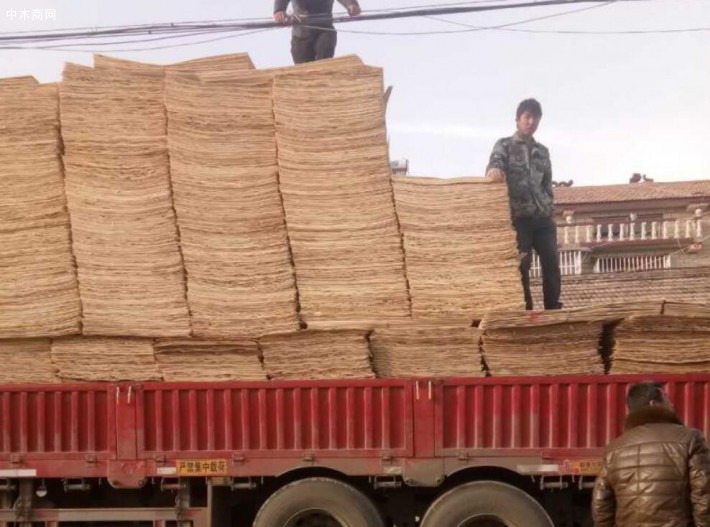
<svg viewBox="0 0 710 527"><path fill-rule="evenodd" d="M710 303L710 181L558 186L555 204L565 307Z"/></svg>

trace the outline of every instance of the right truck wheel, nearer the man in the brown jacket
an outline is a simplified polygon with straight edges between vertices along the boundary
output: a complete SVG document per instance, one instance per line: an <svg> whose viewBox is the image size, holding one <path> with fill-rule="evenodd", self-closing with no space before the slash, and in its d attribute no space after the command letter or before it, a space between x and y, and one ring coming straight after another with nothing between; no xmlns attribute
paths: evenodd
<svg viewBox="0 0 710 527"><path fill-rule="evenodd" d="M497 481L477 481L439 497L421 527L553 527L553 523L522 490Z"/></svg>

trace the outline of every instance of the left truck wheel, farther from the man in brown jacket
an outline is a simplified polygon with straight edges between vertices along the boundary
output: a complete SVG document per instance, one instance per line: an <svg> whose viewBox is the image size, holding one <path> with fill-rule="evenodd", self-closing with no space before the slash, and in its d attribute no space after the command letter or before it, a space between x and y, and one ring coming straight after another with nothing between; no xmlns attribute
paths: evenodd
<svg viewBox="0 0 710 527"><path fill-rule="evenodd" d="M375 505L354 487L329 478L294 481L261 506L253 527L384 527Z"/></svg>

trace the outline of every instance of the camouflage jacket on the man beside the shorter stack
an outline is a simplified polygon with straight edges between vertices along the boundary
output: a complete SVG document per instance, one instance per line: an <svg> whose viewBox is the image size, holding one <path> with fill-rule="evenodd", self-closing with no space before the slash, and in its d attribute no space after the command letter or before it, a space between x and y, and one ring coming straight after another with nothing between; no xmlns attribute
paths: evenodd
<svg viewBox="0 0 710 527"><path fill-rule="evenodd" d="M488 169L505 172L513 219L544 218L554 214L550 152L534 139L518 134L499 139L493 147Z"/></svg>

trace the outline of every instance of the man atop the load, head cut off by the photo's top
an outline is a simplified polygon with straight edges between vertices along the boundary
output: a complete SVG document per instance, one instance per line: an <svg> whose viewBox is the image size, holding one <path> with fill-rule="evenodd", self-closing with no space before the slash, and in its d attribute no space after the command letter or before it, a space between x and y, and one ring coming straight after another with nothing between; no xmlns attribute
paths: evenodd
<svg viewBox="0 0 710 527"><path fill-rule="evenodd" d="M357 0L338 0L350 16L360 14ZM286 23L291 0L274 1L274 20ZM293 0L291 55L295 64L330 59L335 55L338 35L333 27L333 0Z"/></svg>

